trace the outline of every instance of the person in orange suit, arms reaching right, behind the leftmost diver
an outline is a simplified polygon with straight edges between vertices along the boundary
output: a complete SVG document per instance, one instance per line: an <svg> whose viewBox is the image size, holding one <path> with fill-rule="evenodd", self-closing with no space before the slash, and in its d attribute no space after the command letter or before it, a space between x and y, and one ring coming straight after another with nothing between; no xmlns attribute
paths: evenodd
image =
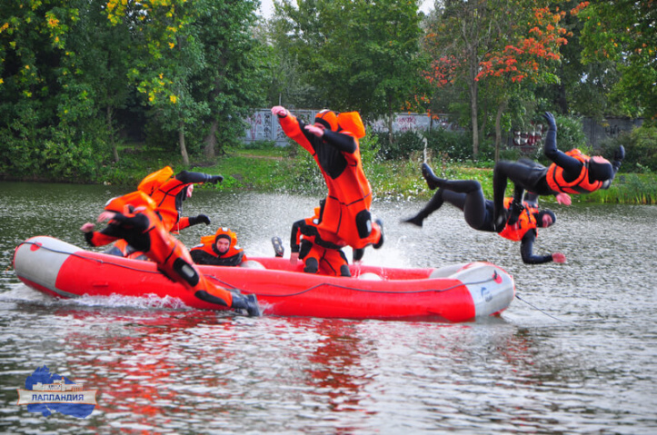
<svg viewBox="0 0 657 435"><path fill-rule="evenodd" d="M146 175L137 186L137 190L151 196L158 203L156 211L162 216L164 227L168 231L174 230L175 233L178 233L180 230L199 223L209 225L210 218L205 214L199 214L193 217L180 217L180 213L183 210L183 201L192 197L194 183L203 183L196 180L208 180L210 178L210 183L217 183L221 182L224 177L205 173L188 173L186 171L178 173L172 178L173 175L174 170L170 166L165 166L159 171ZM191 180L194 180L194 182L189 183ZM119 257L146 259L144 252L135 250L134 247L130 246L123 239L114 242L112 247L106 250L105 253Z"/></svg>

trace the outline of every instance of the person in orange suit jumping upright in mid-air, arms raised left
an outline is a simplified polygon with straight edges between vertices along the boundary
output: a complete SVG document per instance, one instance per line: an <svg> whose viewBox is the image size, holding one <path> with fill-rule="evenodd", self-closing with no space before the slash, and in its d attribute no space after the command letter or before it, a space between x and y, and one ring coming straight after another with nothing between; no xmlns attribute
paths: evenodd
<svg viewBox="0 0 657 435"><path fill-rule="evenodd" d="M383 222L372 222L372 188L363 172L358 139L365 134L360 115L317 114L306 125L283 106L272 108L285 134L313 155L328 187L324 218L317 230L325 242L354 250L383 245ZM340 123L348 125L343 128Z"/></svg>

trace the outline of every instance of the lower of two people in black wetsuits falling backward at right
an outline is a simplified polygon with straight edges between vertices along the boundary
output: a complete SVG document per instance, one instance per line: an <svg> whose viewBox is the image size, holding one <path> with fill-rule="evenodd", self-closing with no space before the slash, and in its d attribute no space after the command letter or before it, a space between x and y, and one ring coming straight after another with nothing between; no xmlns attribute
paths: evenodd
<svg viewBox="0 0 657 435"><path fill-rule="evenodd" d="M463 212L465 222L472 228L485 232L496 232L493 225L493 201L483 197L482 185L476 180L444 180L433 173L431 167L423 163L423 177L430 189L438 188L433 198L415 216L402 222L413 223L422 227L424 219L435 212L443 203L451 203ZM547 228L556 222L556 215L551 210L538 209L538 195L525 194L521 209L515 209L514 223L508 223L499 234L505 239L520 243L520 253L525 264L543 262L565 262L566 256L561 252L550 255L534 255L533 242L538 236L538 228ZM511 207L513 198L506 198L505 206ZM512 218L510 217L510 220Z"/></svg>

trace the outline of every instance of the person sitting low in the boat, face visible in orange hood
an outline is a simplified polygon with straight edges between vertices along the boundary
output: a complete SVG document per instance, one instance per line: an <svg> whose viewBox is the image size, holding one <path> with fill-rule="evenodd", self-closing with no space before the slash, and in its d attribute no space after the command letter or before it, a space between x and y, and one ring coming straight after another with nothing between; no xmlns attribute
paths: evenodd
<svg viewBox="0 0 657 435"><path fill-rule="evenodd" d="M201 237L201 243L190 249L189 253L196 264L239 266L247 261L244 250L237 246L237 234L225 227Z"/></svg>

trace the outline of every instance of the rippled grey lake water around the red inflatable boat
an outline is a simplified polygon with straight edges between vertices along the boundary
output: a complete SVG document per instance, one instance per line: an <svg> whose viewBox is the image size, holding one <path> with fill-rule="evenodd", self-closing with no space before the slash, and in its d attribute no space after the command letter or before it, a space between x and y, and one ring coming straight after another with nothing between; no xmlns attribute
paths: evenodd
<svg viewBox="0 0 657 435"><path fill-rule="evenodd" d="M517 243L476 232L445 205L423 229L414 201L375 201L383 249L364 262L409 267L485 260L516 280L499 318L449 324L246 318L156 302L55 301L15 277L26 238L85 246L114 186L0 183L0 432L657 433L657 207L554 205L524 265ZM247 255L271 255L318 198L197 189L184 213L217 225ZM289 250L289 247L288 247ZM286 252L289 255L289 252ZM35 369L98 390L85 419L17 405Z"/></svg>

